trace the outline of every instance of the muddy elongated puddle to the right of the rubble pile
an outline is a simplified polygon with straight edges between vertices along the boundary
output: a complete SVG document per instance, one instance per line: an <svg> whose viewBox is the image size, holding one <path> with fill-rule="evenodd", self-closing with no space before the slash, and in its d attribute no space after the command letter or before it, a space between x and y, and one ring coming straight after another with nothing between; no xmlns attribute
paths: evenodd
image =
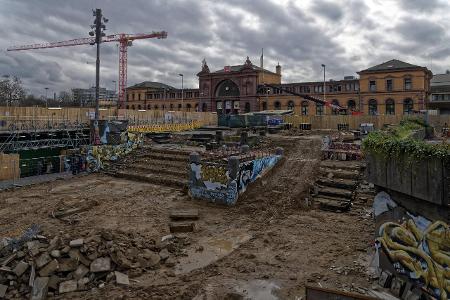
<svg viewBox="0 0 450 300"><path fill-rule="evenodd" d="M199 245L203 247L203 251L189 250L188 256L181 258L179 264L175 267L175 274L185 274L206 267L229 255L250 238L251 235L246 232L228 231L221 234L220 238L212 237L200 240Z"/></svg>

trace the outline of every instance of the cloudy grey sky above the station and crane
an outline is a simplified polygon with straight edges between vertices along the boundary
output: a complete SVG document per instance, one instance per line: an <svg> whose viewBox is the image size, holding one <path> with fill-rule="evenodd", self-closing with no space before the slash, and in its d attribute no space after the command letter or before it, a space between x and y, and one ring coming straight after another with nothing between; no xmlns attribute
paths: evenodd
<svg viewBox="0 0 450 300"><path fill-rule="evenodd" d="M166 30L128 51L128 85L145 80L198 87L211 70L248 55L283 67L283 82L356 75L392 58L450 69L449 0L0 0L0 75L20 77L29 93L87 88L95 82L95 47L7 52L12 45L87 37L93 8L109 18L107 34ZM102 44L101 85L118 80L116 43Z"/></svg>

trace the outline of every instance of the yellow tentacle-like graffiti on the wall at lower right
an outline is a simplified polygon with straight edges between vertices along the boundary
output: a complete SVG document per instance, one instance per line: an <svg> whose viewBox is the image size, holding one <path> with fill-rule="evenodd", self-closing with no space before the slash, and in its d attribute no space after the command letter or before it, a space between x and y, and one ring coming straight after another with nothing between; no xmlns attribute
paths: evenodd
<svg viewBox="0 0 450 300"><path fill-rule="evenodd" d="M378 197L378 195L377 195ZM378 205L380 197L375 198ZM390 200L390 199L389 199ZM390 200L387 210L395 207ZM386 202L386 201L384 201ZM392 203L393 202L393 203ZM386 209L384 209L386 211ZM384 212L383 211L383 212ZM377 207L375 207L375 215ZM410 213L401 222L385 222L377 242L390 258L397 273L408 276L438 299L450 296L450 229L443 221L431 222Z"/></svg>

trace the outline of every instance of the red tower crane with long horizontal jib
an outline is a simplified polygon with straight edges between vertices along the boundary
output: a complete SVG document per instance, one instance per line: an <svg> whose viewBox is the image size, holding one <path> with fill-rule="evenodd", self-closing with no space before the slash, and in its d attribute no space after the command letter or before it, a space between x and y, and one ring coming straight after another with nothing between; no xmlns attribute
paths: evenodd
<svg viewBox="0 0 450 300"><path fill-rule="evenodd" d="M139 33L139 34L127 34L119 33L107 35L102 38L102 43L106 42L119 42L119 103L118 107L123 108L125 103L125 89L127 87L127 50L128 46L132 45L134 40L143 39L165 39L167 38L167 32L159 31L152 33ZM78 46L86 44L94 44L95 37L73 39L62 42L42 43L33 45L14 46L6 49L7 51L20 51L31 49L45 49L45 48L58 48L68 46Z"/></svg>

